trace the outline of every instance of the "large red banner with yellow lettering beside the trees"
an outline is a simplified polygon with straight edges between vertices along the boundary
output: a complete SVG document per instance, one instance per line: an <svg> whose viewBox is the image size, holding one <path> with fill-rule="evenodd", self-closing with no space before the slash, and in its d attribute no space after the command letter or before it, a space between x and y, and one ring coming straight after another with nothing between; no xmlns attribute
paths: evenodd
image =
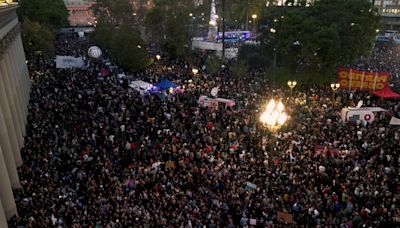
<svg viewBox="0 0 400 228"><path fill-rule="evenodd" d="M381 90L388 87L388 72L359 71L339 68L338 81L342 89Z"/></svg>

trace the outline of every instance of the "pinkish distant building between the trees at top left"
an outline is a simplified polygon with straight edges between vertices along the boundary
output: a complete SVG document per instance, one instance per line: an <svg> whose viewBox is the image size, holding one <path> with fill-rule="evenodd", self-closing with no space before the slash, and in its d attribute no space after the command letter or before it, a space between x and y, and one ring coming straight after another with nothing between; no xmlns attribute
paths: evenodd
<svg viewBox="0 0 400 228"><path fill-rule="evenodd" d="M68 22L73 27L95 26L96 18L92 6L95 4L91 0L64 0L69 12Z"/></svg>

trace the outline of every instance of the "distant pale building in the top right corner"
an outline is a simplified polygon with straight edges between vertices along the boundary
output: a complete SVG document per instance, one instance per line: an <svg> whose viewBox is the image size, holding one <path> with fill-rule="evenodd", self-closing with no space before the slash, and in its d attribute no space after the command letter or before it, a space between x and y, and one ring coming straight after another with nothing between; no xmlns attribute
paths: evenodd
<svg viewBox="0 0 400 228"><path fill-rule="evenodd" d="M372 0L381 15L382 30L400 30L400 0Z"/></svg>

